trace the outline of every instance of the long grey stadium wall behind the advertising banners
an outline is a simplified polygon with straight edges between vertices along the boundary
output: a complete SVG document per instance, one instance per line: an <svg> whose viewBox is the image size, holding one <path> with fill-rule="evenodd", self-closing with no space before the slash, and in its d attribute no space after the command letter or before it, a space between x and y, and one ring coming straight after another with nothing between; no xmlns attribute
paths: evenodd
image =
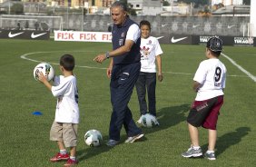
<svg viewBox="0 0 256 167"><path fill-rule="evenodd" d="M41 24L43 30L74 30L86 32L111 31L113 21L110 15L58 15L24 16L16 15L14 18L5 18L0 15L0 28L15 29L17 22L21 25L27 22L24 29L34 29L34 23ZM152 24L154 34L188 34L188 35L222 35L222 36L250 36L249 16L161 16L137 15L131 16L136 23L148 20ZM62 18L62 19L60 19ZM82 21L84 20L84 23ZM44 23L45 26L42 24Z"/></svg>

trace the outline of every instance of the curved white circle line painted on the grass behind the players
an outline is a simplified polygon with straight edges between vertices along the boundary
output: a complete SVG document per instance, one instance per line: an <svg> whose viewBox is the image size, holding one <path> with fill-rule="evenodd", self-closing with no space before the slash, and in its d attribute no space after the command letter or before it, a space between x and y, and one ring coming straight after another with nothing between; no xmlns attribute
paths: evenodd
<svg viewBox="0 0 256 167"><path fill-rule="evenodd" d="M45 54L45 53L53 53L53 52L59 52L59 51L52 51L52 52L34 52L34 53L28 53L28 54L23 54L20 57L22 59L28 60L28 61L32 61L32 62L38 62L38 63L42 63L42 61L38 61L38 60L34 60L32 58L28 58L27 55L31 55L31 54ZM76 51L76 52L84 52L84 51ZM89 51L86 51L89 52ZM94 51L92 51L94 52ZM225 56L225 55L224 55ZM53 62L47 62L49 64L55 64L55 65L59 65ZM76 67L79 68L89 68L89 69L99 69L99 70L106 70L106 68L99 68L99 67L94 67L94 66L84 66L84 65L75 65ZM175 72L162 72L163 74L183 74L183 75L193 75L193 74L189 74L189 73L175 73ZM231 74L231 75L227 75L227 76L231 76L231 77L250 77L250 76L246 76L246 75L236 75L236 74ZM255 77L254 77L255 78Z"/></svg>

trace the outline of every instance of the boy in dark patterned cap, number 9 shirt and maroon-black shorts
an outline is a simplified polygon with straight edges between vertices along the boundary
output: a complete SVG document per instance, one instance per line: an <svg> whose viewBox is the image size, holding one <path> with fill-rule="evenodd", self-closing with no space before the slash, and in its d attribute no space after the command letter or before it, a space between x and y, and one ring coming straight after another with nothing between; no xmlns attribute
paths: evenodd
<svg viewBox="0 0 256 167"><path fill-rule="evenodd" d="M187 118L192 145L187 152L182 153L185 158L202 156L198 132L198 127L202 126L209 133L208 151L204 156L209 160L216 160L216 125L223 103L227 72L225 65L219 60L221 53L222 40L219 37L210 38L205 51L208 59L202 61L193 78L193 90L197 95Z"/></svg>

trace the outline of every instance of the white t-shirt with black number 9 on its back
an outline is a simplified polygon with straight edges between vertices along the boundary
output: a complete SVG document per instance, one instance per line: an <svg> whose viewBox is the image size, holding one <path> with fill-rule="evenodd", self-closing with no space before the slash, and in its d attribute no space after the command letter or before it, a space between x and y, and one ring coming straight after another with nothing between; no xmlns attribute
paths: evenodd
<svg viewBox="0 0 256 167"><path fill-rule="evenodd" d="M193 80L201 83L196 101L203 101L223 95L227 69L217 58L207 59L199 65Z"/></svg>

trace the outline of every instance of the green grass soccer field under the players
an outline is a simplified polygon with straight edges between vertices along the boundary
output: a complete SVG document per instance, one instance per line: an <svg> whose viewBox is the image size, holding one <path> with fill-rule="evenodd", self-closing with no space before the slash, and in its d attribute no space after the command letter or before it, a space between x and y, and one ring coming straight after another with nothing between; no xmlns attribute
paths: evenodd
<svg viewBox="0 0 256 167"><path fill-rule="evenodd" d="M108 139L111 116L109 79L103 64L94 63L94 56L111 50L111 44L0 39L0 166L62 166L49 162L57 151L49 141L54 121L54 96L42 83L34 80L33 70L39 62L53 64L56 74L62 54L73 54L74 74L79 89L80 124L77 147L78 166L256 166L256 47L225 46L221 56L228 70L224 104L218 122L216 161L203 158L186 159L181 153L190 147L186 124L190 105L195 97L192 78L205 59L204 45L162 44L163 82L157 83L156 107L159 127L143 128L141 142L121 143L90 148L84 133L97 129ZM139 118L135 90L129 106L133 119ZM34 111L43 113L33 115ZM207 150L208 133L200 129L203 152Z"/></svg>

